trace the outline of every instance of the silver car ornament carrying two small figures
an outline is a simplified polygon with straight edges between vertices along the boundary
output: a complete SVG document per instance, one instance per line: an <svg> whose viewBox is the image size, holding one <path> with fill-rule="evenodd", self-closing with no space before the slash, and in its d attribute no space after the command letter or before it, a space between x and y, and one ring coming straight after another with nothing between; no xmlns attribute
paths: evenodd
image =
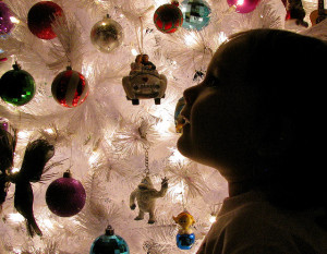
<svg viewBox="0 0 327 254"><path fill-rule="evenodd" d="M160 105L161 98L165 98L167 77L158 73L147 55L140 56L131 64L130 75L122 78L126 98L133 105L138 105L140 99L154 98L155 104Z"/></svg>

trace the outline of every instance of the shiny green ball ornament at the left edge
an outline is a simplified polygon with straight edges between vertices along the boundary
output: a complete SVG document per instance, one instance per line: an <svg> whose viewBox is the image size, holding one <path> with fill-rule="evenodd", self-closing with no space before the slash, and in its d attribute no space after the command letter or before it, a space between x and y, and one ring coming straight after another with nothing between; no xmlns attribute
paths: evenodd
<svg viewBox="0 0 327 254"><path fill-rule="evenodd" d="M8 104L23 106L29 102L35 94L35 82L33 76L21 70L15 63L14 70L5 72L0 80L0 97Z"/></svg>

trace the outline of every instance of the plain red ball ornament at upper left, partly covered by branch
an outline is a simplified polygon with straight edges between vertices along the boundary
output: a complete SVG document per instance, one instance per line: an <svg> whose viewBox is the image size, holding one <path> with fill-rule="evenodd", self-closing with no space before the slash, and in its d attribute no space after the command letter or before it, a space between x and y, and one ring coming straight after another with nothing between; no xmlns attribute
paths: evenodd
<svg viewBox="0 0 327 254"><path fill-rule="evenodd" d="M52 1L40 1L34 4L27 14L27 25L32 34L40 39L53 39L57 37L52 29L52 23L58 16L62 16L61 7Z"/></svg>

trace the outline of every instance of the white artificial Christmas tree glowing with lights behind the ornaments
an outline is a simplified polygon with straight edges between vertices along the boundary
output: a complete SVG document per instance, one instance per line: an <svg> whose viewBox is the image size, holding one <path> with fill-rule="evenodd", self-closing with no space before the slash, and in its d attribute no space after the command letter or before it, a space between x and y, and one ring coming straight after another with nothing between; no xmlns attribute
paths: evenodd
<svg viewBox="0 0 327 254"><path fill-rule="evenodd" d="M47 171L47 181L33 183L34 216L43 237L28 235L24 217L14 208L14 184L10 185L0 214L0 253L86 254L108 225L128 242L132 254L196 253L227 196L227 184L217 170L192 162L177 150L177 102L185 88L201 82L213 53L229 35L251 28L288 28L281 0L261 0L249 13L235 12L226 0L208 0L206 27L180 27L171 34L154 24L155 11L168 0L53 0L64 19L53 21L57 37L49 40L35 36L27 25L28 11L38 1L3 2L15 26L0 38L1 59L8 59L0 63L0 74L16 61L36 82L28 104L17 107L0 101L1 121L17 130L12 170L21 168L27 143L39 137L56 147L49 164L57 164ZM306 14L317 7L310 1L303 5ZM120 24L123 38L116 49L102 52L92 43L90 31L107 14ZM167 78L160 105L154 99L132 105L126 99L122 78L129 76L140 53L148 55ZM89 87L85 101L74 108L59 105L51 94L55 77L68 65L82 73ZM84 185L86 203L77 215L59 217L50 211L45 196L48 185L68 169ZM130 194L147 172L157 190L161 179L169 179L167 194L157 199L153 225L148 215L134 220L137 208L130 209ZM184 209L196 221L196 241L189 251L177 246L179 228L172 219Z"/></svg>

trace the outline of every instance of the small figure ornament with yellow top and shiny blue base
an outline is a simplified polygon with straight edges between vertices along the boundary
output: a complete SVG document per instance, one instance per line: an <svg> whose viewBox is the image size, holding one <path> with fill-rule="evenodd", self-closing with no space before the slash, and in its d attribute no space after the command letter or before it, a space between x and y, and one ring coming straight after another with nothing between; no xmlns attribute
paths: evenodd
<svg viewBox="0 0 327 254"><path fill-rule="evenodd" d="M190 229L192 225L195 223L193 216L184 210L177 217L172 217L174 222L177 222L181 228L177 234L177 245L181 250L190 250L195 242L195 234Z"/></svg>

